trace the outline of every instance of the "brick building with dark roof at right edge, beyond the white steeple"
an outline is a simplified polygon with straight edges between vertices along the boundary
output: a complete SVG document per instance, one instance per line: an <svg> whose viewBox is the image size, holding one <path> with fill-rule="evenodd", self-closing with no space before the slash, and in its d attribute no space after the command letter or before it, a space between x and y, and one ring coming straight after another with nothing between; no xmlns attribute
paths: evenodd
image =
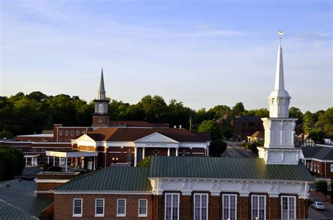
<svg viewBox="0 0 333 220"><path fill-rule="evenodd" d="M302 147L301 160L314 177L333 179L333 146Z"/></svg>

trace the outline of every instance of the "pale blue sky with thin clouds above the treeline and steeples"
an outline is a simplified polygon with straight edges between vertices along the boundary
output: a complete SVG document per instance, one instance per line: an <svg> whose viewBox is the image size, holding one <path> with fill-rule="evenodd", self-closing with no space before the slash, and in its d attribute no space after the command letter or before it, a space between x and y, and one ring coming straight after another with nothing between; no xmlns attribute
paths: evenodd
<svg viewBox="0 0 333 220"><path fill-rule="evenodd" d="M0 1L0 95L268 108L278 30L291 106L333 106L332 1Z"/></svg>

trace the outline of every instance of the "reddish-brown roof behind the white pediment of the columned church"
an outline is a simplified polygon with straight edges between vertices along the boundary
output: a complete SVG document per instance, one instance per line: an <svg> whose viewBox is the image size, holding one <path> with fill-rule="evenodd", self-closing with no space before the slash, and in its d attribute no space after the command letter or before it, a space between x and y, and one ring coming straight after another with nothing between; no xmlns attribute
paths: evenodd
<svg viewBox="0 0 333 220"><path fill-rule="evenodd" d="M177 142L205 142L202 137L179 128L98 128L86 135L95 141L134 142L156 132Z"/></svg>

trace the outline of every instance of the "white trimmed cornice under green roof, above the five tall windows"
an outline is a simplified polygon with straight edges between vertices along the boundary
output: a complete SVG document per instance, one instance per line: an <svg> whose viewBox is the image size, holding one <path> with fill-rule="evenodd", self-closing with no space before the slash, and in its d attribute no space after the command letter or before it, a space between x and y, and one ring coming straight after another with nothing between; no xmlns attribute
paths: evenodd
<svg viewBox="0 0 333 220"><path fill-rule="evenodd" d="M164 191L181 191L182 195L191 195L193 191L209 191L212 196L240 193L241 197L248 197L249 193L268 193L270 198L278 198L282 193L297 194L301 198L308 198L309 195L306 181L150 178L150 184L153 195L163 195Z"/></svg>

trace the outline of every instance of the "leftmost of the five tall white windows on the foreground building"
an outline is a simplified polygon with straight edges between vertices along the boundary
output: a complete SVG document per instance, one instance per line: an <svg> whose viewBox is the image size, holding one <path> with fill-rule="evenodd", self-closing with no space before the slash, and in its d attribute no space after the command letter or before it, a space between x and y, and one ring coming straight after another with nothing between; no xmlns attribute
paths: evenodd
<svg viewBox="0 0 333 220"><path fill-rule="evenodd" d="M165 193L165 220L179 219L179 193Z"/></svg>

